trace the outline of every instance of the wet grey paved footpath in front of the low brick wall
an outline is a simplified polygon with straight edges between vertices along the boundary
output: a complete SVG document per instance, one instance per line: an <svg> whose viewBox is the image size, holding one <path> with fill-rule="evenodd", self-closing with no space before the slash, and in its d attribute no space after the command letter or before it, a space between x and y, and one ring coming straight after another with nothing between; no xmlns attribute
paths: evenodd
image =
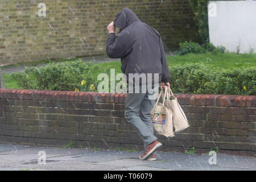
<svg viewBox="0 0 256 182"><path fill-rule="evenodd" d="M40 151L46 154L46 164L39 159ZM158 160L138 159L142 151L94 151L89 148L58 148L24 146L0 143L0 170L100 170L100 171L155 171L155 170L256 170L256 158L217 154L217 164L209 164L208 154L158 152Z"/></svg>

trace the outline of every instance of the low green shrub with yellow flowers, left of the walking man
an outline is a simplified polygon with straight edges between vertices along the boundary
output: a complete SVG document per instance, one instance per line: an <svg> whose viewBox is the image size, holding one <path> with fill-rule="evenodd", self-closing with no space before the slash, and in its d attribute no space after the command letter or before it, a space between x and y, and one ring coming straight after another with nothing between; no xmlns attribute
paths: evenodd
<svg viewBox="0 0 256 182"><path fill-rule="evenodd" d="M24 72L12 73L11 77L24 89L97 91L98 82L94 75L98 69L102 68L93 61L84 63L78 59L40 68L26 67ZM82 85L83 80L86 82Z"/></svg>

